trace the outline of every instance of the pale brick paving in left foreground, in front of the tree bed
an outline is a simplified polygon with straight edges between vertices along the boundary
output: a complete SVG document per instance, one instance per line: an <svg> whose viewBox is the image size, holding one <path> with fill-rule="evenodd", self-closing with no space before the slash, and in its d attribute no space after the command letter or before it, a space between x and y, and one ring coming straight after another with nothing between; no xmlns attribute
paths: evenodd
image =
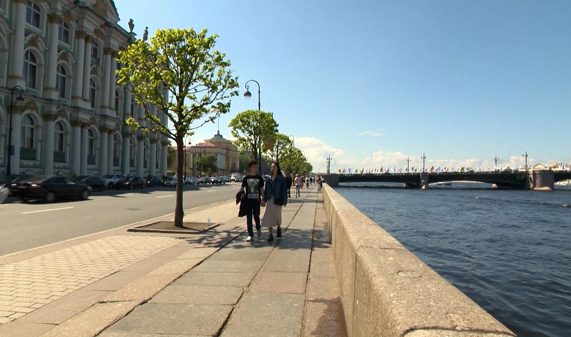
<svg viewBox="0 0 571 337"><path fill-rule="evenodd" d="M0 324L140 262L176 243L162 236L114 235L0 266Z"/></svg>

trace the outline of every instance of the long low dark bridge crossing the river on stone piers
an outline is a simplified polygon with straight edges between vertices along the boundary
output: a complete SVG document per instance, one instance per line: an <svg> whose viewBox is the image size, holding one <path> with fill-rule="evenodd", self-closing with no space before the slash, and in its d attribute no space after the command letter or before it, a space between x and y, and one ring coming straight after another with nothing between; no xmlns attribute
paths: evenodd
<svg viewBox="0 0 571 337"><path fill-rule="evenodd" d="M554 183L571 179L571 171L531 170L495 172L421 172L382 174L329 174L329 186L347 182L402 183L405 187L428 188L428 184L452 181L472 181L494 184L497 188L517 190L553 190Z"/></svg>

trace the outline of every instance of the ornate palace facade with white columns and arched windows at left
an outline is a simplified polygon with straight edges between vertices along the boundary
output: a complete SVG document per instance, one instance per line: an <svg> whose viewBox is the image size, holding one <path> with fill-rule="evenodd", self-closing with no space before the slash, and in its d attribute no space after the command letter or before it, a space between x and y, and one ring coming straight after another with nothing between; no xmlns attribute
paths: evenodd
<svg viewBox="0 0 571 337"><path fill-rule="evenodd" d="M116 84L117 22L111 0L0 0L0 175L166 174L168 140L124 123L148 121Z"/></svg>

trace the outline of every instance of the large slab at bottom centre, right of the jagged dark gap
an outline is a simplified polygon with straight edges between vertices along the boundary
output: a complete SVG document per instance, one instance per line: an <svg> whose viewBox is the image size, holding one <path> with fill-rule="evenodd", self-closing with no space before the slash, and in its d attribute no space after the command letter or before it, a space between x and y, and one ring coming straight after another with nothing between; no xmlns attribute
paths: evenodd
<svg viewBox="0 0 571 337"><path fill-rule="evenodd" d="M247 292L222 337L299 336L305 296Z"/></svg>

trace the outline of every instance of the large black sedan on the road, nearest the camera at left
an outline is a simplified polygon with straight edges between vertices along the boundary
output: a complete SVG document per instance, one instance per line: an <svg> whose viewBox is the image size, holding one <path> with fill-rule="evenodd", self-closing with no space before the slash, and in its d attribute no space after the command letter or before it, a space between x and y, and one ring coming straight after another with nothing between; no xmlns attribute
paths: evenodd
<svg viewBox="0 0 571 337"><path fill-rule="evenodd" d="M10 185L23 202L28 200L46 200L54 202L58 198L87 199L91 187L75 183L61 175L38 175Z"/></svg>

